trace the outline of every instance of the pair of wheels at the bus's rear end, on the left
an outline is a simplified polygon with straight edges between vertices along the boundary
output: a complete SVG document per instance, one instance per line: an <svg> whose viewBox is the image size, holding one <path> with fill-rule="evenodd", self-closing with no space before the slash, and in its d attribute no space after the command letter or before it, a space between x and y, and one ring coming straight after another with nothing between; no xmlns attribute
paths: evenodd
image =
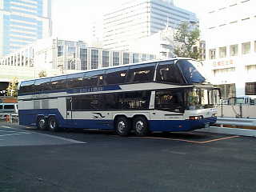
<svg viewBox="0 0 256 192"><path fill-rule="evenodd" d="M58 122L54 116L46 119L44 117L38 117L37 122L38 130L51 130L51 131L58 131Z"/></svg>

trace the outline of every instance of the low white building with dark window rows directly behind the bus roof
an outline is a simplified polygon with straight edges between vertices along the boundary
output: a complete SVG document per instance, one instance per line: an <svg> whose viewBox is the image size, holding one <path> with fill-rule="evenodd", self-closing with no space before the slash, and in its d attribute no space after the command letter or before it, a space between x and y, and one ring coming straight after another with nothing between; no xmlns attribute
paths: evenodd
<svg viewBox="0 0 256 192"><path fill-rule="evenodd" d="M68 74L154 58L154 54L104 50L89 47L86 42L46 38L0 58L0 82L10 82L14 77L37 78L42 70L48 75Z"/></svg>

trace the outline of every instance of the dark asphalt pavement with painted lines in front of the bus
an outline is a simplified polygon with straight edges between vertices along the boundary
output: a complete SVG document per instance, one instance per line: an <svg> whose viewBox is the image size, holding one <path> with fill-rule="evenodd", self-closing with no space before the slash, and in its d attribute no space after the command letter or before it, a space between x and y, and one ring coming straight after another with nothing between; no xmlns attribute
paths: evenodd
<svg viewBox="0 0 256 192"><path fill-rule="evenodd" d="M255 191L255 145L225 134L122 138L0 123L0 191Z"/></svg>

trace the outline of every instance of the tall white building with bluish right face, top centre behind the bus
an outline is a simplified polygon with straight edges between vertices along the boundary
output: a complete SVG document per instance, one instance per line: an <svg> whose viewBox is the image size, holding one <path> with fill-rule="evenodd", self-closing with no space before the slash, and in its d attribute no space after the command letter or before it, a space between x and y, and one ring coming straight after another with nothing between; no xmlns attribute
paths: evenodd
<svg viewBox="0 0 256 192"><path fill-rule="evenodd" d="M129 50L134 39L146 38L164 30L176 28L180 22L196 23L194 13L174 6L172 0L134 0L104 15L103 47Z"/></svg>

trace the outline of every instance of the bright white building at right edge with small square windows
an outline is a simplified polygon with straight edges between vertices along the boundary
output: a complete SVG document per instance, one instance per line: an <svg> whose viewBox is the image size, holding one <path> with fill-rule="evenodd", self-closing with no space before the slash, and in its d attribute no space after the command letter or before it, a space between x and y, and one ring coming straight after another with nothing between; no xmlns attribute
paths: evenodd
<svg viewBox="0 0 256 192"><path fill-rule="evenodd" d="M230 98L256 95L256 1L232 0L211 10L206 25L206 66Z"/></svg>

